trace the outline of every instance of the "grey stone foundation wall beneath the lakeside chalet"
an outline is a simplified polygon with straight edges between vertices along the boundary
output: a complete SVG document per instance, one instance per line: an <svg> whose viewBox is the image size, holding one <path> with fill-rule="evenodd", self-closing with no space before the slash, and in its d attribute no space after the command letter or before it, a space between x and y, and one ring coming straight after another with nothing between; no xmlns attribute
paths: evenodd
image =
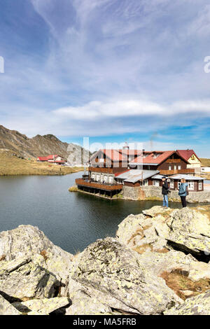
<svg viewBox="0 0 210 329"><path fill-rule="evenodd" d="M129 200L146 200L146 198L162 199L162 188L158 186L141 186L132 188L123 186L123 197ZM178 190L169 193L169 199L180 201ZM210 202L210 191L189 192L186 200L188 202Z"/></svg>

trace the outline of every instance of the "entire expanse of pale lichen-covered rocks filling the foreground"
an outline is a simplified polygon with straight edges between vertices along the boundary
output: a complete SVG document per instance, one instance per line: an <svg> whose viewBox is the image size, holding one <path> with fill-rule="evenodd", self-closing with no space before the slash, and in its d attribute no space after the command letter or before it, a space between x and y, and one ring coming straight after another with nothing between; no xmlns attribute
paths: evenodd
<svg viewBox="0 0 210 329"><path fill-rule="evenodd" d="M0 233L0 314L210 314L210 208L153 207L71 255L30 225Z"/></svg>

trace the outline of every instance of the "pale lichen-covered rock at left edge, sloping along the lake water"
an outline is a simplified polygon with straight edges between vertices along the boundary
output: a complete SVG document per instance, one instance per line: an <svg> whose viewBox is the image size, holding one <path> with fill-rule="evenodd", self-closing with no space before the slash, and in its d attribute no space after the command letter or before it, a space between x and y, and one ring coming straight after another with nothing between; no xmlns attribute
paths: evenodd
<svg viewBox="0 0 210 329"><path fill-rule="evenodd" d="M31 225L20 225L0 233L0 258L13 260L29 257L52 272L62 283L61 294L66 294L69 269L73 255L55 246L41 230Z"/></svg>

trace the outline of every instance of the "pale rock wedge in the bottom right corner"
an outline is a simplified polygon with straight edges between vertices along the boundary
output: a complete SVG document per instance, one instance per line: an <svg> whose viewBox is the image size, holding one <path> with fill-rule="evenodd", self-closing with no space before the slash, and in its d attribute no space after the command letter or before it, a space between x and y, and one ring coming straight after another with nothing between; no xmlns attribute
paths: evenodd
<svg viewBox="0 0 210 329"><path fill-rule="evenodd" d="M183 304L168 309L165 315L210 315L210 290L188 298Z"/></svg>

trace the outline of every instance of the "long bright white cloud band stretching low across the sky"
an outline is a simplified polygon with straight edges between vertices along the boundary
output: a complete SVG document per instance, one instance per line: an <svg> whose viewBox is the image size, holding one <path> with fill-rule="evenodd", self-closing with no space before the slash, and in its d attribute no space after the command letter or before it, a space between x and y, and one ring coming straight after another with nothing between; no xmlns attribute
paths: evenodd
<svg viewBox="0 0 210 329"><path fill-rule="evenodd" d="M132 99L109 103L90 102L83 106L69 106L57 109L53 113L59 118L72 118L84 121L132 116L177 116L187 113L199 113L200 116L210 116L210 99L175 102L167 106Z"/></svg>

